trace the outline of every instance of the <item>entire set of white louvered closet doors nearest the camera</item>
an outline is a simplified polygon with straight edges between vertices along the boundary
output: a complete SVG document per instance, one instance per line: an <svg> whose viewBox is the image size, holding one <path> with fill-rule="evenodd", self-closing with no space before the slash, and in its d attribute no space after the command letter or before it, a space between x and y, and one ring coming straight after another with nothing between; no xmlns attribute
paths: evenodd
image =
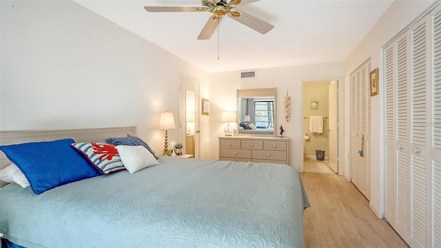
<svg viewBox="0 0 441 248"><path fill-rule="evenodd" d="M384 49L384 216L411 247L441 247L440 8Z"/></svg>

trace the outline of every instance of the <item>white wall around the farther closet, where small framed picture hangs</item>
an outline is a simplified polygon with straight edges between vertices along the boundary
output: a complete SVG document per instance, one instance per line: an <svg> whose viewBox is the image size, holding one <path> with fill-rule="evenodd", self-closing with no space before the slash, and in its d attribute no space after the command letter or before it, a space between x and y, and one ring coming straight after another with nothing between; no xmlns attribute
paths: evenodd
<svg viewBox="0 0 441 248"><path fill-rule="evenodd" d="M384 99L384 80L382 78L383 68L380 61L380 49L386 45L401 30L407 27L413 19L420 16L427 10L434 1L394 1L391 7L384 13L381 19L373 26L365 39L357 46L346 60L346 92L345 98L346 113L350 116L350 80L349 76L353 70L358 68L364 61L371 57L372 69L378 68L380 77L378 95L371 99L371 209L376 212L379 218L382 218L384 209L384 160L382 150L384 149L383 136L383 99ZM349 118L346 120L346 126L349 125ZM346 130L346 156L347 159L345 176L349 177L349 156L350 156L350 129ZM378 144L378 145L376 145Z"/></svg>

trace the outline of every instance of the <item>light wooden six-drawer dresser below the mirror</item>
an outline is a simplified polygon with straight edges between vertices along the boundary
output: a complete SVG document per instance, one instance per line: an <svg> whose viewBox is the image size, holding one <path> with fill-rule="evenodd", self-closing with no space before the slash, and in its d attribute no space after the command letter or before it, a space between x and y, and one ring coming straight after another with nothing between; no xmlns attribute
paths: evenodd
<svg viewBox="0 0 441 248"><path fill-rule="evenodd" d="M219 137L219 160L289 164L289 138Z"/></svg>

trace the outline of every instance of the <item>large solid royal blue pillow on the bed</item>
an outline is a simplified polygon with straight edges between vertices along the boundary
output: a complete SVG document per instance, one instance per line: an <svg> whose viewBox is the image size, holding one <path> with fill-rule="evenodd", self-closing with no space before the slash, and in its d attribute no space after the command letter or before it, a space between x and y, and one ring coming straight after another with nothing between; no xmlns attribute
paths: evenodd
<svg viewBox="0 0 441 248"><path fill-rule="evenodd" d="M28 178L34 194L77 180L101 175L70 144L72 138L57 141L0 146L9 160Z"/></svg>

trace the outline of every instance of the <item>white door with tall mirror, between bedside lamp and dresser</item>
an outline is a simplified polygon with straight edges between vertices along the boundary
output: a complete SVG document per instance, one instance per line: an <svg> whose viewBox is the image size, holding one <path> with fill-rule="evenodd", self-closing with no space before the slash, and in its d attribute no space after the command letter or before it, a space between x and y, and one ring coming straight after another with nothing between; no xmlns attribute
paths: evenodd
<svg viewBox="0 0 441 248"><path fill-rule="evenodd" d="M181 75L181 114L179 138L185 154L199 157L199 83L197 79Z"/></svg>

